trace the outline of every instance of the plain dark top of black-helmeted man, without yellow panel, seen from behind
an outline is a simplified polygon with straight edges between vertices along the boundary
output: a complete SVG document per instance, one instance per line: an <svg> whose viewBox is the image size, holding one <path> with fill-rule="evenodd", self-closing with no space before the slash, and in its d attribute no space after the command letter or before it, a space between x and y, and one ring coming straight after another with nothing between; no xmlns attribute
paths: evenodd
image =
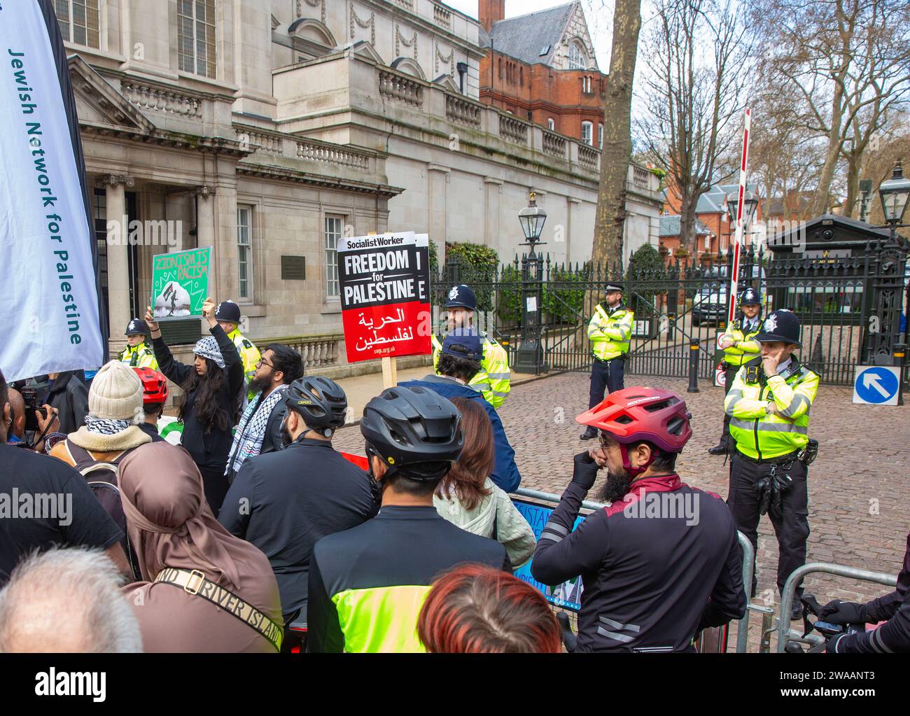
<svg viewBox="0 0 910 716"><path fill-rule="evenodd" d="M244 509L241 509L244 508ZM227 490L218 521L262 550L275 571L281 611L307 609L313 545L373 516L367 473L324 440L248 458Z"/></svg>

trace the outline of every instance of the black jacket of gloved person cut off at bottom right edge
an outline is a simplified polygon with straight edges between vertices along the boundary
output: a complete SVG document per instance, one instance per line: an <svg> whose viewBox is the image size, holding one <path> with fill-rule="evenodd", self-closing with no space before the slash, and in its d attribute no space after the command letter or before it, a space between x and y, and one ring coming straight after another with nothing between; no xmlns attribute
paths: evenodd
<svg viewBox="0 0 910 716"><path fill-rule="evenodd" d="M885 621L873 631L848 634L837 641L837 652L846 654L875 654L879 652L910 652L910 534L904 553L904 567L897 575L897 587L890 594L866 602L862 613L870 623Z"/></svg>

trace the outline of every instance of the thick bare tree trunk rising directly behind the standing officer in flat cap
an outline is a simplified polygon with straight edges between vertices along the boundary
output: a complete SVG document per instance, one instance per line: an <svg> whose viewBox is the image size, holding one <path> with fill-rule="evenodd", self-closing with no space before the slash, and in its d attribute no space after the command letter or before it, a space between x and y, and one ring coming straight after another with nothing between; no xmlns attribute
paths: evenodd
<svg viewBox="0 0 910 716"><path fill-rule="evenodd" d="M601 184L597 192L591 260L622 272L626 176L632 157L632 78L642 27L641 0L616 0L610 76L603 107Z"/></svg>

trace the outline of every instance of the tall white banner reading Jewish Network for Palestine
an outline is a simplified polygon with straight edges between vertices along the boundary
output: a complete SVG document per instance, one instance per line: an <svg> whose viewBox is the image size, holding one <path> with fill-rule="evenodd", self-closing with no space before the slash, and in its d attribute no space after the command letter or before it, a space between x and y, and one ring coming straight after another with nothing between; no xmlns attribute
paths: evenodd
<svg viewBox="0 0 910 716"><path fill-rule="evenodd" d="M92 242L53 50L35 2L0 1L0 369L96 368Z"/></svg>

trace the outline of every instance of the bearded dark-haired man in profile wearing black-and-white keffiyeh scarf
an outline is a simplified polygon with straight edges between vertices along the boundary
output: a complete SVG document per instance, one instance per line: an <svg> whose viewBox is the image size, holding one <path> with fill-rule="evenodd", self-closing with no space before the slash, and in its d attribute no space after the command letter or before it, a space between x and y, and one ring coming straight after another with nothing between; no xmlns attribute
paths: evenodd
<svg viewBox="0 0 910 716"><path fill-rule="evenodd" d="M243 461L282 448L281 421L285 416L284 397L288 386L303 375L303 358L281 343L269 343L249 379L253 394L234 432L227 455L225 475L230 484Z"/></svg>

